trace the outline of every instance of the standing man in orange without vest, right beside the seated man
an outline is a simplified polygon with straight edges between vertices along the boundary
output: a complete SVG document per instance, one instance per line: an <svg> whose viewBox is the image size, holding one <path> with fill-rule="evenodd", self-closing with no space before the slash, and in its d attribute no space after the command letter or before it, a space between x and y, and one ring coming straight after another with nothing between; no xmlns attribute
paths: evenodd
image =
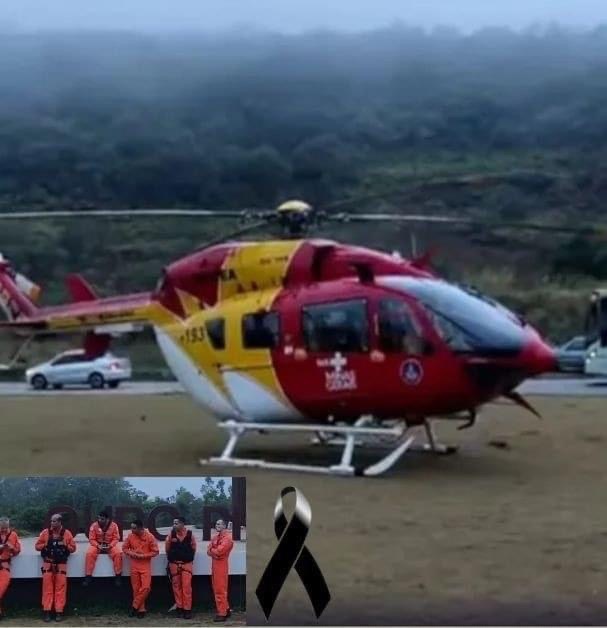
<svg viewBox="0 0 607 628"><path fill-rule="evenodd" d="M158 542L143 522L136 519L131 523L131 533L122 544L122 552L131 559L131 586L133 603L131 617L145 617L145 601L152 589L152 558L158 556Z"/></svg>

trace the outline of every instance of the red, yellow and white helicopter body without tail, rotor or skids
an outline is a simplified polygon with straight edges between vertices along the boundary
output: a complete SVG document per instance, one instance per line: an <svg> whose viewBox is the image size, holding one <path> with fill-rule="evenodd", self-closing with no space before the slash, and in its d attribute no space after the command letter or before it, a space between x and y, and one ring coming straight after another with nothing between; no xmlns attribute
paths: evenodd
<svg viewBox="0 0 607 628"><path fill-rule="evenodd" d="M415 422L553 369L529 325L408 261L328 241L214 248L166 270L153 318L171 370L221 420Z"/></svg>

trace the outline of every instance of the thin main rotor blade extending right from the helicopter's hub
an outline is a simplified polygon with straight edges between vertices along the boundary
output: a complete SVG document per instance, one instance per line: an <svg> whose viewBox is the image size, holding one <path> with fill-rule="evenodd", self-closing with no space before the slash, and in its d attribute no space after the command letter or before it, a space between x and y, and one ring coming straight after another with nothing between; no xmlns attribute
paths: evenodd
<svg viewBox="0 0 607 628"><path fill-rule="evenodd" d="M478 227L479 229L521 229L528 231L548 231L552 233L568 233L588 236L607 236L607 229L582 225L579 227L550 225L534 222L513 221L482 221L473 218L459 218L457 216L436 216L424 214L354 214L339 213L326 217L333 222L401 222L401 223L430 223L453 224Z"/></svg>

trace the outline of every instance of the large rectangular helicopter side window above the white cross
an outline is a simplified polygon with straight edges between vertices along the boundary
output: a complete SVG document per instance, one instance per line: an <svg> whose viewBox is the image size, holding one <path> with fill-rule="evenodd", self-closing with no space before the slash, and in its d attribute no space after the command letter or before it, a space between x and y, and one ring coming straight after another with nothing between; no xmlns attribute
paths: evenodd
<svg viewBox="0 0 607 628"><path fill-rule="evenodd" d="M309 351L366 353L369 323L364 300L309 305L302 308L304 344Z"/></svg>

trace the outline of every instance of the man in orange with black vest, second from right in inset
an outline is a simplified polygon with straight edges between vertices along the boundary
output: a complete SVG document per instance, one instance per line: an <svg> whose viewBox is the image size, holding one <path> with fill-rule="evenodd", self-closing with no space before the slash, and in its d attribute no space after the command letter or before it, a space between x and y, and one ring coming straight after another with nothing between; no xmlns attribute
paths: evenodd
<svg viewBox="0 0 607 628"><path fill-rule="evenodd" d="M178 617L192 617L192 571L196 554L196 539L185 527L185 519L176 517L173 529L164 542L168 560L168 571L175 597Z"/></svg>

